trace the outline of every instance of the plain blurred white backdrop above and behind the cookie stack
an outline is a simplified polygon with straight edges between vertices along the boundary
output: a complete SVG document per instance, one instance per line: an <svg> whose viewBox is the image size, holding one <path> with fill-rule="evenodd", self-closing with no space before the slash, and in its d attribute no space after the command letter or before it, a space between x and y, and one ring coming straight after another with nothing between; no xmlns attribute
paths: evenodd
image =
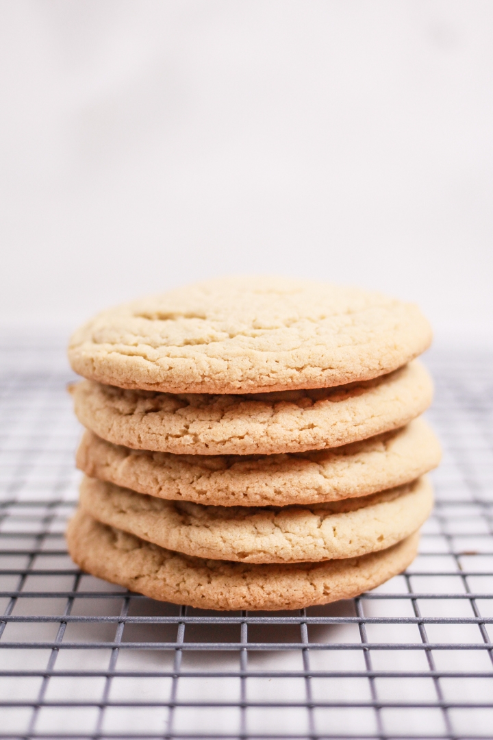
<svg viewBox="0 0 493 740"><path fill-rule="evenodd" d="M0 319L209 275L493 314L493 3L0 1Z"/></svg>

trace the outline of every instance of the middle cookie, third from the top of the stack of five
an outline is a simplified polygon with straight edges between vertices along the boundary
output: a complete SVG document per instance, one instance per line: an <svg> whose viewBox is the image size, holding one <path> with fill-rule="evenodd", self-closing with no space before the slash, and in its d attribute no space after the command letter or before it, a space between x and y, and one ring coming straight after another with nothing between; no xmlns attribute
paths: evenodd
<svg viewBox="0 0 493 740"><path fill-rule="evenodd" d="M89 477L161 499L216 506L286 506L373 494L438 465L440 444L421 418L330 450L272 455L175 455L132 450L85 431L77 465Z"/></svg>

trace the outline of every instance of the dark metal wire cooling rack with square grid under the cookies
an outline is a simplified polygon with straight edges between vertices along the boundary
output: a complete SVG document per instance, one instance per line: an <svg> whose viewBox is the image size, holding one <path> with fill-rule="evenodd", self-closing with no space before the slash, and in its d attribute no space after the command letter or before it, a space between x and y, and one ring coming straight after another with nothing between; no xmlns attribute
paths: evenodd
<svg viewBox="0 0 493 740"><path fill-rule="evenodd" d="M0 342L0 737L493 736L492 355L435 351L444 457L407 573L294 612L154 602L75 568L59 337Z"/></svg>

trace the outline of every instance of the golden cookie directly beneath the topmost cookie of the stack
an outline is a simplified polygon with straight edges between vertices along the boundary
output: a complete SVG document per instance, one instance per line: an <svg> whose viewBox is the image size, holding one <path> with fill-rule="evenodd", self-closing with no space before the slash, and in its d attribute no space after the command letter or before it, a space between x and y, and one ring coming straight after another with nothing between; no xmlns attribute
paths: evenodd
<svg viewBox="0 0 493 740"><path fill-rule="evenodd" d="M237 395L128 391L84 380L75 414L103 440L175 454L272 454L339 447L398 428L432 400L414 360L374 380L337 388Z"/></svg>

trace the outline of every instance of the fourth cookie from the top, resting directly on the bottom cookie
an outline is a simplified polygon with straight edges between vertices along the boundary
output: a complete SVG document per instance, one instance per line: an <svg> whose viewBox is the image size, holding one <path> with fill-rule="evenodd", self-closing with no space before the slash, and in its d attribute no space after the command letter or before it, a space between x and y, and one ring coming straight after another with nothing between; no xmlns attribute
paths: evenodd
<svg viewBox="0 0 493 740"><path fill-rule="evenodd" d="M432 510L426 478L370 496L309 507L203 506L144 496L94 478L81 508L98 521L187 555L235 562L315 562L384 550Z"/></svg>

